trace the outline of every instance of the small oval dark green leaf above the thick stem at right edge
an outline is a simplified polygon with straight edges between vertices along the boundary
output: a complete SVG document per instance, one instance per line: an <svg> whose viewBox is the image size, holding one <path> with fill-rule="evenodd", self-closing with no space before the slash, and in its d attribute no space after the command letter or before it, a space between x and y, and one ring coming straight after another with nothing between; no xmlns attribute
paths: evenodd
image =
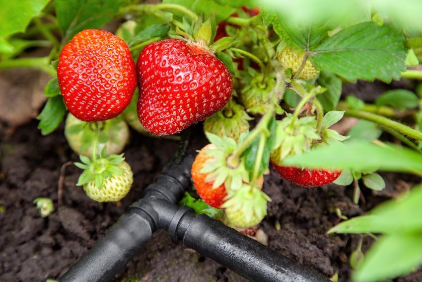
<svg viewBox="0 0 422 282"><path fill-rule="evenodd" d="M375 104L377 106L392 106L396 109L410 109L416 108L419 105L418 96L405 89L395 89L384 92L379 96Z"/></svg>

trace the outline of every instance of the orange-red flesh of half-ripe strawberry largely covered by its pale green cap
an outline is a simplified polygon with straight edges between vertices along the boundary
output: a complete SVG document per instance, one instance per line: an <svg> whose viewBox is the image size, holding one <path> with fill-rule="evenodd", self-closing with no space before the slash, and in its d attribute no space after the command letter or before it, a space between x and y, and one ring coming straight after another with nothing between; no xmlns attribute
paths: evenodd
<svg viewBox="0 0 422 282"><path fill-rule="evenodd" d="M205 152L214 148L215 145L208 144L201 149L201 151L196 156L194 163L192 164L191 175L198 195L202 198L202 200L212 207L219 208L224 202L224 198L227 196L224 184L217 188L212 188L213 182L207 182L207 174L201 173L204 166L207 165L207 163L213 161L213 157L206 154ZM264 183L263 176L257 179L257 183L258 188L261 189Z"/></svg>

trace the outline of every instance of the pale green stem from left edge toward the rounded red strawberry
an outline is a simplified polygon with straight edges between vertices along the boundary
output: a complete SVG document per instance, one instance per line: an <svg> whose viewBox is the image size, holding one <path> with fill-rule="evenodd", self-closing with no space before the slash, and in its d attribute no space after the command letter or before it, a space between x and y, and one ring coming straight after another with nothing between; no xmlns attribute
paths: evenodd
<svg viewBox="0 0 422 282"><path fill-rule="evenodd" d="M44 71L56 76L56 70L50 66L48 57L41 58L18 58L14 60L0 61L0 70L29 68Z"/></svg>

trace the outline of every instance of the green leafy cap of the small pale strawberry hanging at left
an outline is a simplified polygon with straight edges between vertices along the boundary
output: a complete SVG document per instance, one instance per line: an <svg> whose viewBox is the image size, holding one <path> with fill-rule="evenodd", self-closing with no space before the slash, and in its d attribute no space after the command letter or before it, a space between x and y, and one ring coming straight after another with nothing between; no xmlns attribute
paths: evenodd
<svg viewBox="0 0 422 282"><path fill-rule="evenodd" d="M119 168L125 158L123 154L120 155L110 155L104 158L90 160L85 156L79 156L80 163L74 163L74 165L83 170L82 174L79 176L76 186L83 186L95 181L95 186L98 189L103 187L103 182L105 179L123 174L123 170Z"/></svg>

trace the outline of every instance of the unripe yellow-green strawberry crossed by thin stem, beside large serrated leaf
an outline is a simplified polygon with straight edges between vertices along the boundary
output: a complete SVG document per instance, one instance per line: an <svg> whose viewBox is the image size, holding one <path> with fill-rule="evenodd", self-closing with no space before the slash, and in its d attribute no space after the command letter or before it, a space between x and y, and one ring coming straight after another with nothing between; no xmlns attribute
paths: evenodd
<svg viewBox="0 0 422 282"><path fill-rule="evenodd" d="M293 49L286 46L280 52L278 59L284 69L291 69L293 73L295 73L302 64L304 56L305 54L303 52L296 54ZM317 74L318 71L314 68L314 66L312 66L312 63L309 60L306 60L305 66L297 78L302 80L310 80L316 77Z"/></svg>

